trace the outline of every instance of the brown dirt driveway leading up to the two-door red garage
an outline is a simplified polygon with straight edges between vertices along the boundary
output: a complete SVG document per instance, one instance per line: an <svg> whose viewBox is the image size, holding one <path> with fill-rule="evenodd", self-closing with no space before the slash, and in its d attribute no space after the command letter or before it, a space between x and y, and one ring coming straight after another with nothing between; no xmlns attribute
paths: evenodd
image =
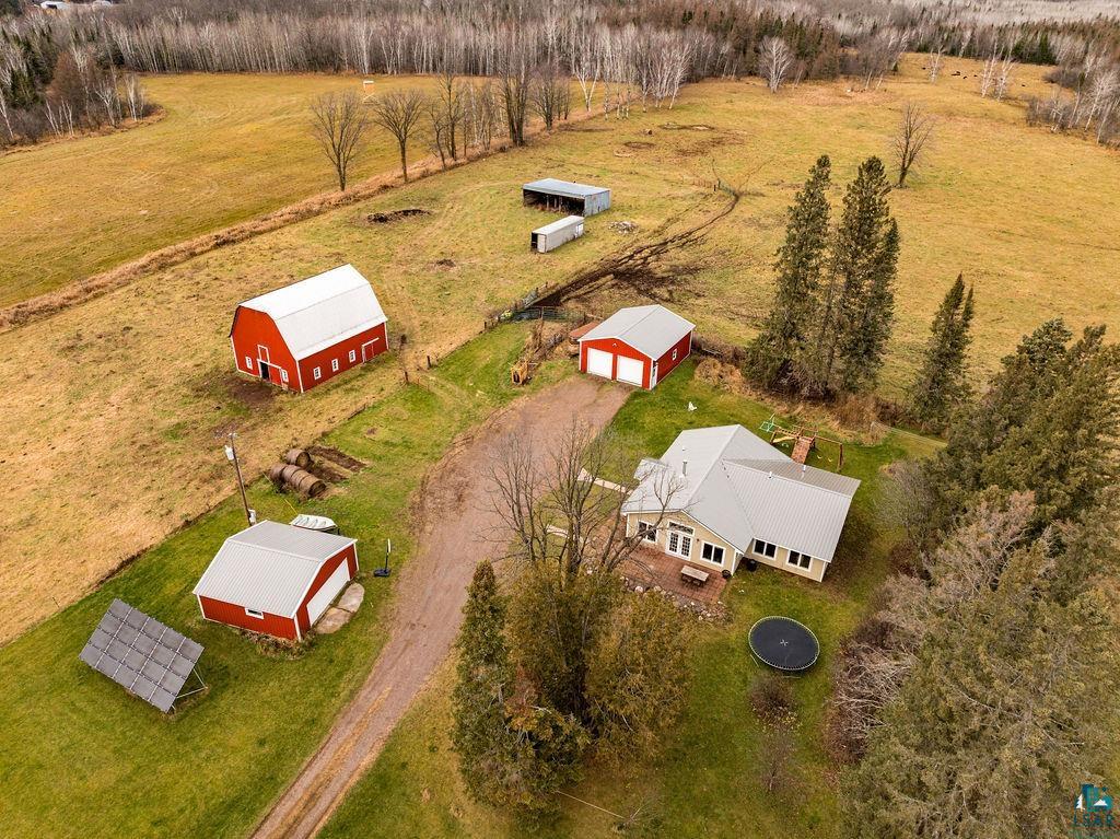
<svg viewBox="0 0 1120 839"><path fill-rule="evenodd" d="M541 463L572 419L606 426L626 391L590 376L519 400L460 438L427 479L417 556L401 570L390 638L357 696L319 751L280 796L254 837L315 836L381 748L455 642L475 565L495 553L501 520L486 477L495 444L516 432Z"/></svg>

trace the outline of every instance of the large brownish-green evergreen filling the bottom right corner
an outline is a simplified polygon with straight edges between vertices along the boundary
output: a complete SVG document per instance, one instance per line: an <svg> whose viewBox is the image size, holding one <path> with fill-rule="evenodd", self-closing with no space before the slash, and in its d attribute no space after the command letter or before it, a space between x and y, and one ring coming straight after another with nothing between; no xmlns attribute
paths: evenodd
<svg viewBox="0 0 1120 839"><path fill-rule="evenodd" d="M1075 791L1111 755L1120 658L1107 587L1055 597L1046 551L1023 547L934 619L855 773L847 835L1068 835Z"/></svg>

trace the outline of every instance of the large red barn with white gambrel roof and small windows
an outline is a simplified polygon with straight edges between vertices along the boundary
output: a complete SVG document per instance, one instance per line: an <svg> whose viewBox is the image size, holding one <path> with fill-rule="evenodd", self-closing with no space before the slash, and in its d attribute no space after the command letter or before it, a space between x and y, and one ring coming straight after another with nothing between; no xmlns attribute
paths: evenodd
<svg viewBox="0 0 1120 839"><path fill-rule="evenodd" d="M385 352L386 320L368 280L340 265L240 304L230 344L242 373L302 393Z"/></svg>

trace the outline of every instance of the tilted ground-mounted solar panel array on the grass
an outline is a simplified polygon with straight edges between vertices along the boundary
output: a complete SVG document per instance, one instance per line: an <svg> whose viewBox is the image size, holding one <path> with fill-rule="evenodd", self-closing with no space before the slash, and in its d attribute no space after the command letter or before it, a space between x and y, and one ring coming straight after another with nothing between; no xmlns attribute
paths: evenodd
<svg viewBox="0 0 1120 839"><path fill-rule="evenodd" d="M167 714L202 654L202 644L114 599L78 658Z"/></svg>

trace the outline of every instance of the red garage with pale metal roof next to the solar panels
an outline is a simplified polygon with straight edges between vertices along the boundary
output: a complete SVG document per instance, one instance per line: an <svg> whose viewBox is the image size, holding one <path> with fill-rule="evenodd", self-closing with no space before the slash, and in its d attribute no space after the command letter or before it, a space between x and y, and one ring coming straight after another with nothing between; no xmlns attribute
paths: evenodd
<svg viewBox="0 0 1120 839"><path fill-rule="evenodd" d="M207 621L300 641L355 574L355 540L262 521L225 540L194 594Z"/></svg>

